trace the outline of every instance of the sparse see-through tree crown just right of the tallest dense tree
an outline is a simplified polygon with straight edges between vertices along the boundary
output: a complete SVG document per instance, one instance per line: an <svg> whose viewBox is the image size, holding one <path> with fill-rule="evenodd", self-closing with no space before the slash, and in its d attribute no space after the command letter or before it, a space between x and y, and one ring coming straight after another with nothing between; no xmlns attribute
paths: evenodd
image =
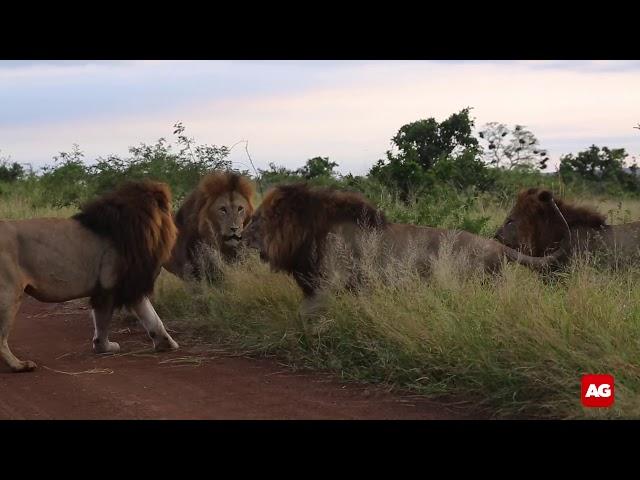
<svg viewBox="0 0 640 480"><path fill-rule="evenodd" d="M509 131L506 125L489 122L480 131L479 137L487 143L485 161L496 167L547 168L547 151L540 148L536 136L523 125Z"/></svg>

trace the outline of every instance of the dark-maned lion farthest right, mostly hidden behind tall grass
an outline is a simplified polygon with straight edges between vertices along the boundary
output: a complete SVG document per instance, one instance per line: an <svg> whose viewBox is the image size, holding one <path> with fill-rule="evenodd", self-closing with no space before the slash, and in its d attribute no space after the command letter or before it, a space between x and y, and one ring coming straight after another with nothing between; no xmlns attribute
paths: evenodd
<svg viewBox="0 0 640 480"><path fill-rule="evenodd" d="M516 204L495 234L496 240L529 255L545 255L557 247L570 230L568 253L603 252L609 259L638 257L640 222L609 225L606 217L593 208L556 199L563 221L555 215L547 199L549 190L529 188L518 193ZM567 259L570 255L567 255Z"/></svg>

